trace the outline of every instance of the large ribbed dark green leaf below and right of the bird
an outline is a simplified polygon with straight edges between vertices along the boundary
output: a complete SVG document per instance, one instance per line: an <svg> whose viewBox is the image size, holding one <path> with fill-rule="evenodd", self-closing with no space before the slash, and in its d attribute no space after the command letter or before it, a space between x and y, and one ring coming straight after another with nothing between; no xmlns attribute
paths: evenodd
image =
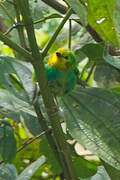
<svg viewBox="0 0 120 180"><path fill-rule="evenodd" d="M77 87L63 103L73 138L120 170L120 95Z"/></svg>

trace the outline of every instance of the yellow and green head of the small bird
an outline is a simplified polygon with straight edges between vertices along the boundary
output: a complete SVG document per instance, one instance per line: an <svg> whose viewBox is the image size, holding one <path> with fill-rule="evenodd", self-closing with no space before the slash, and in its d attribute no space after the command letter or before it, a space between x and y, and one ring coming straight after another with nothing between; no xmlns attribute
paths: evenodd
<svg viewBox="0 0 120 180"><path fill-rule="evenodd" d="M52 68L56 68L59 71L72 71L76 68L75 57L69 50L60 48L53 54L48 61L48 64Z"/></svg>

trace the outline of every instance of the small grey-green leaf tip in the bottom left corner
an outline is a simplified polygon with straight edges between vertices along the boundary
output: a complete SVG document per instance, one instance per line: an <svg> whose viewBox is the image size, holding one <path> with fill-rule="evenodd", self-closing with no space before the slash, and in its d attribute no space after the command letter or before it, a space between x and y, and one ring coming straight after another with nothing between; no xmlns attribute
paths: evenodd
<svg viewBox="0 0 120 180"><path fill-rule="evenodd" d="M0 180L15 180L17 177L17 170L13 164L0 165Z"/></svg>

